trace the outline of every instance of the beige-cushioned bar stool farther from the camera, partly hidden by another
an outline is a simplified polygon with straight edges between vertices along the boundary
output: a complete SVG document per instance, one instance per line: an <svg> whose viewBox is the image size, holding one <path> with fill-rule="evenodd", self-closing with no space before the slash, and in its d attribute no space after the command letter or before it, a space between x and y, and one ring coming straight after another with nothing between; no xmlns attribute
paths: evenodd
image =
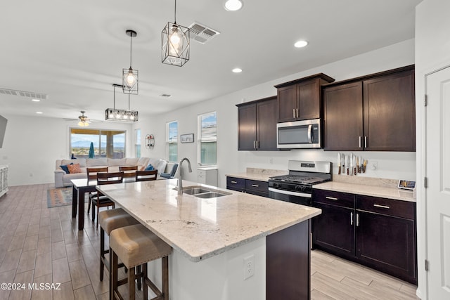
<svg viewBox="0 0 450 300"><path fill-rule="evenodd" d="M105 254L110 253L110 251L109 247L105 250L105 233L109 236L111 231L117 228L139 224L139 221L130 216L127 211L120 208L100 211L97 219L100 224L100 281L103 281L104 268L106 267L108 273L111 271L110 262L112 257L110 254L110 262L108 263Z"/></svg>

